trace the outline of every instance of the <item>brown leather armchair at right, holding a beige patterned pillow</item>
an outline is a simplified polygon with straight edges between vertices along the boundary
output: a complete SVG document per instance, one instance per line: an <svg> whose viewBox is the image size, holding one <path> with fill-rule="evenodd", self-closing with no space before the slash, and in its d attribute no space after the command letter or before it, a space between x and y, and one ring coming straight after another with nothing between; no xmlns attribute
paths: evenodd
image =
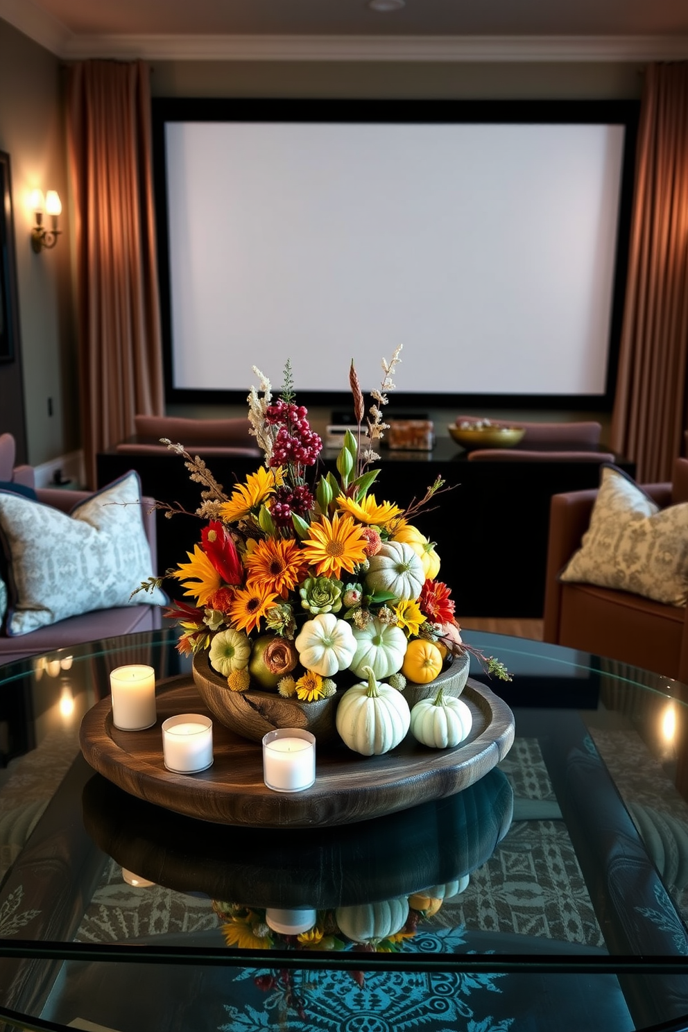
<svg viewBox="0 0 688 1032"><path fill-rule="evenodd" d="M688 459L676 459L671 483L641 486L660 508L688 502ZM552 497L544 639L688 685L688 609L628 591L559 581L559 573L581 547L596 496L592 489Z"/></svg>

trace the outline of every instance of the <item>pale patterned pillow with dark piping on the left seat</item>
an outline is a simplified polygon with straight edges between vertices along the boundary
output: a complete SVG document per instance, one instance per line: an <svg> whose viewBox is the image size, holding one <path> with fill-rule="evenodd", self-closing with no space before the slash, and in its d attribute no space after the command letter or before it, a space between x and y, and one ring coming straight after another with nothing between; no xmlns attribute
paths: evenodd
<svg viewBox="0 0 688 1032"><path fill-rule="evenodd" d="M26 635L96 609L165 605L159 589L131 598L154 576L140 496L133 472L83 502L70 516L0 491L0 531L10 580L8 635Z"/></svg>

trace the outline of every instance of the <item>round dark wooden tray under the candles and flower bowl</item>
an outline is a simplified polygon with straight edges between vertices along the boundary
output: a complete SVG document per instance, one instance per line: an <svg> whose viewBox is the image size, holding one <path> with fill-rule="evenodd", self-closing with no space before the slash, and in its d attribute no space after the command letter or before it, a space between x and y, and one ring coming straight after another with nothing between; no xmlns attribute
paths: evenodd
<svg viewBox="0 0 688 1032"><path fill-rule="evenodd" d="M316 782L299 793L267 788L261 746L217 722L212 767L193 775L166 770L162 721L176 713L207 714L191 678L158 686L158 720L146 731L119 731L110 700L97 703L81 722L80 745L88 763L125 792L188 816L252 828L351 824L454 795L506 755L514 742L506 704L470 679L462 698L473 727L461 745L429 749L407 735L382 756L361 756L340 742L317 746Z"/></svg>

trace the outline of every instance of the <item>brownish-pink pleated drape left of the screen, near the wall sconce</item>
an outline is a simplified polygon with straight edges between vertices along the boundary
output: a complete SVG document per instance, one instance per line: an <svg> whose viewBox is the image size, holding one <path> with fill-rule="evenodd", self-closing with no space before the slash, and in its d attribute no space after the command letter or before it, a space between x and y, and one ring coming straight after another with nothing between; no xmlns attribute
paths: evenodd
<svg viewBox="0 0 688 1032"><path fill-rule="evenodd" d="M84 61L68 72L83 444L96 454L164 411L150 70Z"/></svg>

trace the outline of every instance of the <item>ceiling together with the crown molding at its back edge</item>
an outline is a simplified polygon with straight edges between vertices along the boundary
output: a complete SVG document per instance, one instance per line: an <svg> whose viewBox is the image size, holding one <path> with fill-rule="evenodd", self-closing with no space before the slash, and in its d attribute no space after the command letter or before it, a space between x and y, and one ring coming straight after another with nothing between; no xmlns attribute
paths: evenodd
<svg viewBox="0 0 688 1032"><path fill-rule="evenodd" d="M0 18L63 58L688 57L686 0L0 0Z"/></svg>

